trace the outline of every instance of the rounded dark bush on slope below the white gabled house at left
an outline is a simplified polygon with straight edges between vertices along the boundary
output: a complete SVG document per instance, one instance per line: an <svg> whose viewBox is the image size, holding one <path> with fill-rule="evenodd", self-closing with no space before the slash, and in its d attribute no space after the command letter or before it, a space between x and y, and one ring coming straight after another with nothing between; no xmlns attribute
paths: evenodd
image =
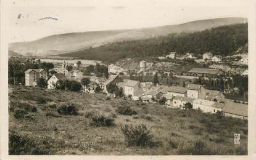
<svg viewBox="0 0 256 160"><path fill-rule="evenodd" d="M78 115L77 113L78 107L74 103L62 103L59 108L57 108L57 112L59 114L70 114L70 115Z"/></svg>

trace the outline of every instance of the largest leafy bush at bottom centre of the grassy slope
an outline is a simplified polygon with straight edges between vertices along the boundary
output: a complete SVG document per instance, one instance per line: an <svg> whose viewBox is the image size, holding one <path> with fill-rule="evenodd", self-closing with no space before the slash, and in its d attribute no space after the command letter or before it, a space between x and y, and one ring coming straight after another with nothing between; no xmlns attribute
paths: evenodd
<svg viewBox="0 0 256 160"><path fill-rule="evenodd" d="M128 146L151 146L152 145L152 135L144 124L139 124L138 126L122 126L121 131L125 135L125 141Z"/></svg>

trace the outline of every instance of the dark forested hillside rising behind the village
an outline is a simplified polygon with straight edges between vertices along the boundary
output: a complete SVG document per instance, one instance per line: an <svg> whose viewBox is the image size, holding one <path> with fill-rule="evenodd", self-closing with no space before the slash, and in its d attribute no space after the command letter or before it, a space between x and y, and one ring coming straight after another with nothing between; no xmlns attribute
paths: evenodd
<svg viewBox="0 0 256 160"><path fill-rule="evenodd" d="M136 41L114 42L105 46L61 54L65 57L75 57L103 62L116 62L123 58L146 58L167 55L171 51L178 54L191 52L213 55L229 55L248 43L248 24L219 26L210 30L194 33L168 34Z"/></svg>

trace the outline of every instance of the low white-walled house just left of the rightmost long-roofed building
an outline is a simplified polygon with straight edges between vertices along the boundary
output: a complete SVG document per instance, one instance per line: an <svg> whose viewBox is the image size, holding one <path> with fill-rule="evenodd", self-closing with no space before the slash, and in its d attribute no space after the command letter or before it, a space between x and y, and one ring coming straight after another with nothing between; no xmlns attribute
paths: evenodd
<svg viewBox="0 0 256 160"><path fill-rule="evenodd" d="M217 113L217 111L221 111L223 107L223 103L213 102L210 100L202 100L197 98L193 100L193 109L202 110L205 113Z"/></svg>

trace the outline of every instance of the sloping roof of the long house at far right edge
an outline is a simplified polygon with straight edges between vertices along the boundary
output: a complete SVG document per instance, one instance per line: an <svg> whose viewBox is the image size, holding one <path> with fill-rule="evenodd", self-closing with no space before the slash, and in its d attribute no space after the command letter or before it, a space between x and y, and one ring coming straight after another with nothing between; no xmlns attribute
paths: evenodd
<svg viewBox="0 0 256 160"><path fill-rule="evenodd" d="M225 113L248 117L248 105L244 105L241 103L225 103L225 106L223 107L222 111Z"/></svg>

